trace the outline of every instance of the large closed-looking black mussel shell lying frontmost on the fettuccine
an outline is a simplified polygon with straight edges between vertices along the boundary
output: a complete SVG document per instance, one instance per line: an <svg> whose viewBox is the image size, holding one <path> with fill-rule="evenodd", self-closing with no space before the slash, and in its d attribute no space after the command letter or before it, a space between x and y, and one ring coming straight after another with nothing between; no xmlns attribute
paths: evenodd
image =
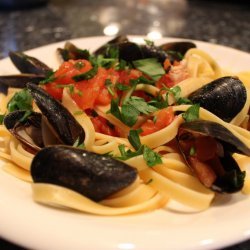
<svg viewBox="0 0 250 250"><path fill-rule="evenodd" d="M63 186L100 201L133 183L137 171L108 156L53 146L34 157L31 175L35 183Z"/></svg>

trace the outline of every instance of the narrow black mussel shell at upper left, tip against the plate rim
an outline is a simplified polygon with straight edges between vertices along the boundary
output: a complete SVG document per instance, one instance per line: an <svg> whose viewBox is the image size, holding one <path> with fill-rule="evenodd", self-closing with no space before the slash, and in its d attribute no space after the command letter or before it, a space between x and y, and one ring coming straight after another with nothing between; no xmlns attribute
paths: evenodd
<svg viewBox="0 0 250 250"><path fill-rule="evenodd" d="M9 57L21 73L49 75L53 70L35 57L23 52L10 51Z"/></svg>

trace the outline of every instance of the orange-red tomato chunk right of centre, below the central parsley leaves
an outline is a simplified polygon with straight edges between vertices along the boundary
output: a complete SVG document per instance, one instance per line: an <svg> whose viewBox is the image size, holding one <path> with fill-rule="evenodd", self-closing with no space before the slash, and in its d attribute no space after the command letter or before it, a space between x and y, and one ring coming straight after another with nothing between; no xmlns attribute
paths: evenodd
<svg viewBox="0 0 250 250"><path fill-rule="evenodd" d="M142 124L141 135L149 135L167 127L174 120L174 112L172 108L162 109L156 114L156 121L147 120Z"/></svg>

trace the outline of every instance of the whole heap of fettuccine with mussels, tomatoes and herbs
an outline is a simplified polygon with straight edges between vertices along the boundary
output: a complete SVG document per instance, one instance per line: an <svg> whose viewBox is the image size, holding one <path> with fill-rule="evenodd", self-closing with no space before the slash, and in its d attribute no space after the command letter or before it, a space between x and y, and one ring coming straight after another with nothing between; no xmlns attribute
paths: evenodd
<svg viewBox="0 0 250 250"><path fill-rule="evenodd" d="M10 52L0 76L3 169L36 202L98 215L203 211L250 193L250 72L190 42L119 36L90 53L67 42L57 69Z"/></svg>

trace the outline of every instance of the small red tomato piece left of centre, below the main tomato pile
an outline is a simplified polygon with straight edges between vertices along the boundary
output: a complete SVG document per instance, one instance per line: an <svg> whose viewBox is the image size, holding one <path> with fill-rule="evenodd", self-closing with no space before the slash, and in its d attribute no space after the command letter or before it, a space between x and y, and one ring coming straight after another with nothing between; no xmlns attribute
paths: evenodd
<svg viewBox="0 0 250 250"><path fill-rule="evenodd" d="M93 122L94 128L96 132L105 134L105 135L111 135L111 136L119 136L115 127L108 123L108 121L101 117L96 116L92 117L91 121Z"/></svg>

